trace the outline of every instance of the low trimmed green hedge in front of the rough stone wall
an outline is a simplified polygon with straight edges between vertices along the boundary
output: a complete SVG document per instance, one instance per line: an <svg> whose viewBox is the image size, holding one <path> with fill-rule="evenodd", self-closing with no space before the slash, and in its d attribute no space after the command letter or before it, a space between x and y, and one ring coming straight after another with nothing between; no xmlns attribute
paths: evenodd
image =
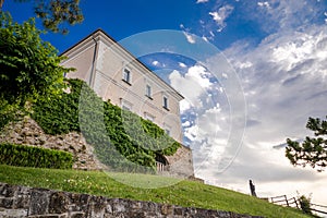
<svg viewBox="0 0 327 218"><path fill-rule="evenodd" d="M0 144L0 164L17 167L70 169L72 154L26 145Z"/></svg>

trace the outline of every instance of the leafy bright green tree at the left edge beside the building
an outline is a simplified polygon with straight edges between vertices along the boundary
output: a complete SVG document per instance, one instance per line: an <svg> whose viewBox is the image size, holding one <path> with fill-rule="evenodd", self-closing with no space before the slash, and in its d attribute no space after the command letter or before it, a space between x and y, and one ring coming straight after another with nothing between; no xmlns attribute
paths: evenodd
<svg viewBox="0 0 327 218"><path fill-rule="evenodd" d="M33 19L17 24L9 13L0 13L0 93L10 105L25 105L61 92L63 74L57 50L39 37Z"/></svg>

